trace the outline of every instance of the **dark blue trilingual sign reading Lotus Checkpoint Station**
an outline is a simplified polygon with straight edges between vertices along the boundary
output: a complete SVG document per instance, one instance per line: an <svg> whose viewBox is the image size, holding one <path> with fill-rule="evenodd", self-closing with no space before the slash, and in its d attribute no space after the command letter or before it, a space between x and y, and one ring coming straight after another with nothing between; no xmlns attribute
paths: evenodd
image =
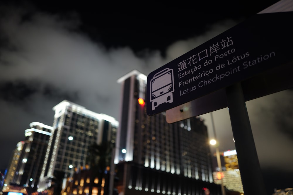
<svg viewBox="0 0 293 195"><path fill-rule="evenodd" d="M256 14L149 73L147 114L221 94L229 85L292 62L292 21L292 11Z"/></svg>

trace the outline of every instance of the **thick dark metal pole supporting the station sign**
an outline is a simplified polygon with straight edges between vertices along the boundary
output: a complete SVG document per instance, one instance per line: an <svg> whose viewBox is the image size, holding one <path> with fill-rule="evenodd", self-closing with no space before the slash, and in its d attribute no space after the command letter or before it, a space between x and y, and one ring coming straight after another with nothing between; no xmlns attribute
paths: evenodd
<svg viewBox="0 0 293 195"><path fill-rule="evenodd" d="M241 83L226 87L226 95L243 191L267 195Z"/></svg>

